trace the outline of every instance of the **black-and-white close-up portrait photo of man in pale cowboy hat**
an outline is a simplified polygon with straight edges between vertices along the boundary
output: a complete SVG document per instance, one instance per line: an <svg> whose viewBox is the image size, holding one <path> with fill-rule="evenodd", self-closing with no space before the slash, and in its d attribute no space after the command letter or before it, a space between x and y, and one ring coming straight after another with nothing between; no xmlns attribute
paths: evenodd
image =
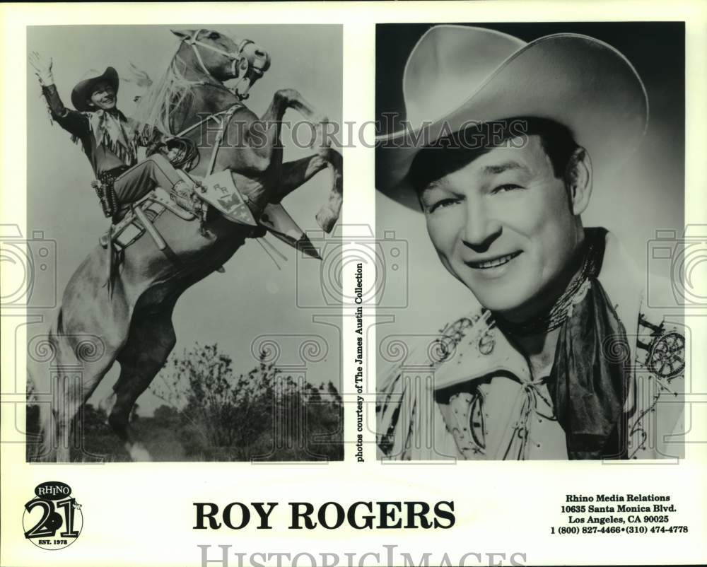
<svg viewBox="0 0 707 567"><path fill-rule="evenodd" d="M680 22L377 26L379 458L684 455L684 98Z"/></svg>

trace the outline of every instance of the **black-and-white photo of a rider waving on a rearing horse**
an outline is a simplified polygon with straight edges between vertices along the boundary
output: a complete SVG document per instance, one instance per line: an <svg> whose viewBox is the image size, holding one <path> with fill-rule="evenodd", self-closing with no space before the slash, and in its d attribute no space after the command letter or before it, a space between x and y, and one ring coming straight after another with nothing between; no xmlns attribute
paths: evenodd
<svg viewBox="0 0 707 567"><path fill-rule="evenodd" d="M338 322L297 297L341 210L341 41L28 28L28 460L343 457Z"/></svg>

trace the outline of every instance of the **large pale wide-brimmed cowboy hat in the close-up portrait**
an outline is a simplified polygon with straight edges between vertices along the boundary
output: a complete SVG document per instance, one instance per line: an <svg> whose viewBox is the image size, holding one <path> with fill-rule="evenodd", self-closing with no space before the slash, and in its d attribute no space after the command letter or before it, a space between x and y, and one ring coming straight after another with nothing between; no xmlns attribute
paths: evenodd
<svg viewBox="0 0 707 567"><path fill-rule="evenodd" d="M412 49L403 97L409 128L378 138L375 181L378 190L417 210L405 179L416 153L423 142L472 122L552 119L571 130L595 170L636 148L648 123L645 88L629 60L574 33L526 43L486 28L437 25Z"/></svg>

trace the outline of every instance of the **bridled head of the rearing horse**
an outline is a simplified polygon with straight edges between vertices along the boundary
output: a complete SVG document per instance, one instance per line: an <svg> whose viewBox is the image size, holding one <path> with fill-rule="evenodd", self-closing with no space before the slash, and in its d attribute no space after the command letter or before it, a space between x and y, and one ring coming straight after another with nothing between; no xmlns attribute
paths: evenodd
<svg viewBox="0 0 707 567"><path fill-rule="evenodd" d="M247 98L247 92L270 66L270 55L251 40L230 38L215 30L172 30L180 38L179 53L192 52L202 71L218 81L240 78L235 93Z"/></svg>

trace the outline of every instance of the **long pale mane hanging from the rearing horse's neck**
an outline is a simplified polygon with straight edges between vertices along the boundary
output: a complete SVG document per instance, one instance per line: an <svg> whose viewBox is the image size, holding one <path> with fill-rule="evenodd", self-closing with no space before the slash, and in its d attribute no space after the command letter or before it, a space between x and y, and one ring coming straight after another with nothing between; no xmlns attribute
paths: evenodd
<svg viewBox="0 0 707 567"><path fill-rule="evenodd" d="M177 45L177 52L181 45L181 42ZM134 119L141 125L142 133L148 137L153 136L156 130L170 136L178 134L172 131L170 122L182 105L191 102L194 87L199 84L185 78L179 65L182 59L177 52L167 70L150 86L136 107Z"/></svg>

